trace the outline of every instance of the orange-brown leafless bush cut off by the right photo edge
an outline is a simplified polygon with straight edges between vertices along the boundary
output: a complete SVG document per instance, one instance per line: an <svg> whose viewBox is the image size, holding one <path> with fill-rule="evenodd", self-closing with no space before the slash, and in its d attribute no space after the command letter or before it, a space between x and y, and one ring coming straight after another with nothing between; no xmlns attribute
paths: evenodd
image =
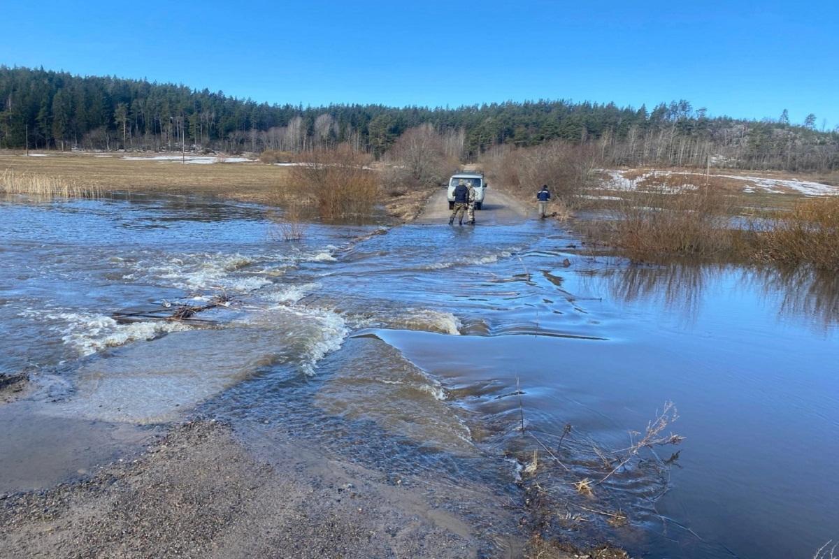
<svg viewBox="0 0 839 559"><path fill-rule="evenodd" d="M839 271L839 196L805 200L754 229L758 261Z"/></svg>

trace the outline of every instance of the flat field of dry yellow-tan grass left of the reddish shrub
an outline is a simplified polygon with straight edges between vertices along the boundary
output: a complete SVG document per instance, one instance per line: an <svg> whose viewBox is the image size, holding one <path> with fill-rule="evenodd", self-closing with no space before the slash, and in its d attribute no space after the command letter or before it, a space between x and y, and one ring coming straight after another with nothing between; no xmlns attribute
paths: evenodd
<svg viewBox="0 0 839 559"><path fill-rule="evenodd" d="M258 162L183 164L180 160L128 160L118 153L44 154L26 157L0 152L0 174L39 176L96 191L209 194L267 204L274 204L289 184L289 168Z"/></svg>

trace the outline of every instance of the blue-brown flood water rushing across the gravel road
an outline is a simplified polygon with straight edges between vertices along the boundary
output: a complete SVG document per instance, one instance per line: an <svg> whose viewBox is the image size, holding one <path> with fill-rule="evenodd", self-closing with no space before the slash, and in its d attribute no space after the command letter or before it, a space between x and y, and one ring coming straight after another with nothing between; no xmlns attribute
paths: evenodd
<svg viewBox="0 0 839 559"><path fill-rule="evenodd" d="M289 243L263 207L195 198L5 199L0 238L0 372L35 386L0 406L0 492L197 413L407 487L524 503L538 484L545 531L638 556L810 557L839 537L836 277L630 266L538 220ZM577 493L607 473L593 448L627 448L665 401L685 440ZM469 515L489 539L522 516Z"/></svg>

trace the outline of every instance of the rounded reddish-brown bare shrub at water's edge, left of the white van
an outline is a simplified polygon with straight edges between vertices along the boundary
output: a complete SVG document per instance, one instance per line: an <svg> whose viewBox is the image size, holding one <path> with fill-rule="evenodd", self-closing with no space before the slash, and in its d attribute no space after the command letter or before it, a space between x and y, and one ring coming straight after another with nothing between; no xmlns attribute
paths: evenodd
<svg viewBox="0 0 839 559"><path fill-rule="evenodd" d="M325 219L369 215L379 196L378 175L368 167L372 160L346 143L300 153L291 167L290 192Z"/></svg>

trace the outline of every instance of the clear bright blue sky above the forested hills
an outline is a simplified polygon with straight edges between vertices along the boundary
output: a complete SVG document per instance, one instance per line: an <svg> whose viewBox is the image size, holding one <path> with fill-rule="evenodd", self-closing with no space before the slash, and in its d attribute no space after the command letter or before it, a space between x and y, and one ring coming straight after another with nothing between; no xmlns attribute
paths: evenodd
<svg viewBox="0 0 839 559"><path fill-rule="evenodd" d="M839 125L839 0L0 0L0 64L255 101L573 99Z"/></svg>

